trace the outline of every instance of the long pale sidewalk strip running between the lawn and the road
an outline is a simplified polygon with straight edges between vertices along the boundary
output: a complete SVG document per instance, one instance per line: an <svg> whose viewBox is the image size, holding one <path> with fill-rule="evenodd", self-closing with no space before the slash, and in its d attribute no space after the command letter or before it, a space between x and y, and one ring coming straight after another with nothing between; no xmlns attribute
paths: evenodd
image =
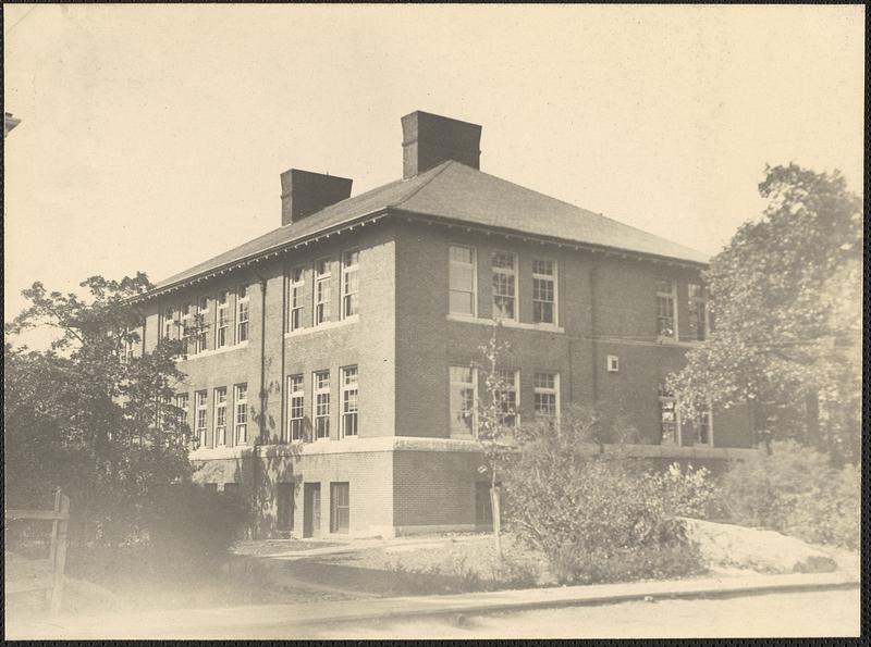
<svg viewBox="0 0 871 647"><path fill-rule="evenodd" d="M261 633L266 629L270 633L274 631L275 638L292 638L306 625L332 625L348 621L491 613L547 607L608 605L646 598L751 595L858 585L858 577L844 573L707 577L306 605L176 609L123 617L58 617L28 622L26 626L7 618L5 630L9 639L241 638L245 637L246 629L257 629Z"/></svg>

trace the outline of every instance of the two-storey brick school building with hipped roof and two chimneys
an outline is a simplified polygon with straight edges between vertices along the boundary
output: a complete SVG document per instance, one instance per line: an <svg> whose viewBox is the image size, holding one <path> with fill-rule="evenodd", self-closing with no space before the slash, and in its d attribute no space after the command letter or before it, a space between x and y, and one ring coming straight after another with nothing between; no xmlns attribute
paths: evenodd
<svg viewBox="0 0 871 647"><path fill-rule="evenodd" d="M494 322L520 421L591 406L639 456L753 451L749 408L682 420L664 387L709 329L704 254L483 173L479 125L402 132L401 179L351 197L291 169L280 227L139 299L146 350L187 341L197 482L249 497L257 536L489 528L474 363Z"/></svg>

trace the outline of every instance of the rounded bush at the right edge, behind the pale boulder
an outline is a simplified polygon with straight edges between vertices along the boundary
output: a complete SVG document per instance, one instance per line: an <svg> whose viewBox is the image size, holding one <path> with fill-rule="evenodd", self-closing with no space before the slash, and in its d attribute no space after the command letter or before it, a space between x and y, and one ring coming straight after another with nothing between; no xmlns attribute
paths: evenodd
<svg viewBox="0 0 871 647"><path fill-rule="evenodd" d="M859 469L832 468L829 457L793 440L770 456L733 465L723 475L731 518L815 544L858 548Z"/></svg>

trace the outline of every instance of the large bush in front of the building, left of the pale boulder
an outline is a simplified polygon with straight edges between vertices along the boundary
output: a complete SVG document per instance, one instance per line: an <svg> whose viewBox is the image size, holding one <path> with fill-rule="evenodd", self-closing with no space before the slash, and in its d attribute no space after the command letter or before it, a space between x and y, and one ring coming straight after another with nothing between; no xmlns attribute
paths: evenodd
<svg viewBox="0 0 871 647"><path fill-rule="evenodd" d="M598 416L576 412L571 416L559 425L522 427L517 434L520 451L506 464L503 483L518 538L545 557L561 583L591 577L591 563L611 563L612 559L615 563L630 560L638 577L657 576L662 569L653 561L635 560L630 557L634 551L642 556L680 553L686 557L680 558L676 571L700 569L683 524L670 509L673 503L664 495L666 490L677 493L678 487L667 477L648 474L646 463L619 452L591 456L589 444L585 448L584 443L590 437L589 427L599 424ZM703 474L694 478L684 487L704 482ZM683 476L677 482L683 484ZM610 576L597 573L596 577Z"/></svg>

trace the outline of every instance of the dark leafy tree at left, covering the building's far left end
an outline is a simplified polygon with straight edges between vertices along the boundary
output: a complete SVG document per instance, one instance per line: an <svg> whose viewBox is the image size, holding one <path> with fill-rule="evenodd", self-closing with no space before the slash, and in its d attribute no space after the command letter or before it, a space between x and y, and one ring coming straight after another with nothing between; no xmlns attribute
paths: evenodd
<svg viewBox="0 0 871 647"><path fill-rule="evenodd" d="M81 285L87 300L35 283L23 293L30 306L5 327L7 497L33 505L60 486L78 522L72 538L111 544L139 525L156 485L189 475L189 430L171 403L184 350L161 340L128 352L143 324L131 298L151 287L144 274ZM36 326L58 331L50 348L13 347Z"/></svg>

